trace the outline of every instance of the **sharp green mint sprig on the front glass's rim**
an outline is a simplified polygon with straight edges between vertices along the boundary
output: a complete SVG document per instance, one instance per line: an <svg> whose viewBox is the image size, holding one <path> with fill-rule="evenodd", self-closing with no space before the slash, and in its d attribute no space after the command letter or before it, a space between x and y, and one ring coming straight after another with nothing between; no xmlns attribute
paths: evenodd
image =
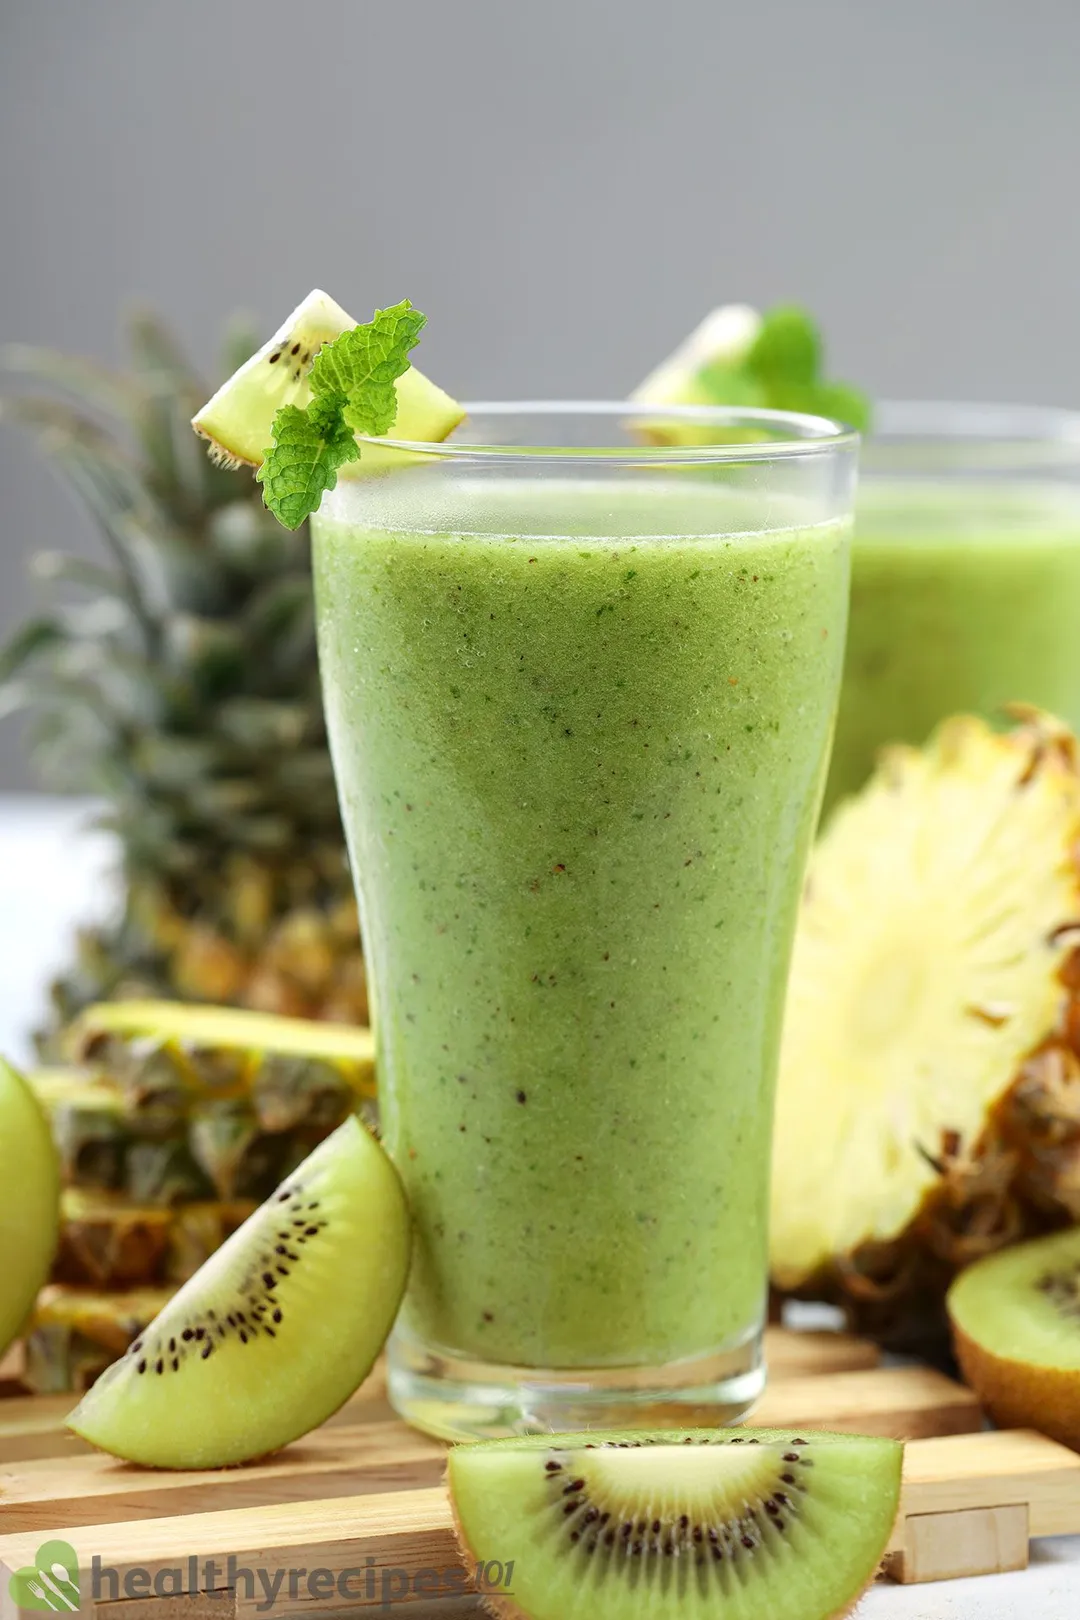
<svg viewBox="0 0 1080 1620"><path fill-rule="evenodd" d="M390 431L397 416L393 384L408 371L424 322L408 298L376 309L364 326L322 345L311 366L308 405L282 405L277 411L274 442L256 478L285 528L300 528L334 489L338 470L359 460L355 434Z"/></svg>

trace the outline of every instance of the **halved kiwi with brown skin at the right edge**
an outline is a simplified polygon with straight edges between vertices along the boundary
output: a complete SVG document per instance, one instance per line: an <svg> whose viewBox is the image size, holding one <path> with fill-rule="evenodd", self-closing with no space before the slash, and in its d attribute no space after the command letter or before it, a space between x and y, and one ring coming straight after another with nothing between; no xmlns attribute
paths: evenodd
<svg viewBox="0 0 1080 1620"><path fill-rule="evenodd" d="M947 1306L963 1377L994 1422L1080 1450L1080 1228L976 1260Z"/></svg>

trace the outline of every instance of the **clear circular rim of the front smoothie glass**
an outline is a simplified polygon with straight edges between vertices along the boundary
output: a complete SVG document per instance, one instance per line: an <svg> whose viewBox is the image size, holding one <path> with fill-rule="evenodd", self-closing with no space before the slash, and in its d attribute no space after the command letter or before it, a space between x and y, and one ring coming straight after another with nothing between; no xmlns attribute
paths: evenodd
<svg viewBox="0 0 1080 1620"><path fill-rule="evenodd" d="M683 423L688 428L776 431L772 439L742 444L484 444L444 439L431 444L416 439L358 434L361 444L381 450L445 462L567 460L575 465L638 462L649 467L776 462L792 457L824 455L855 449L860 434L847 423L808 411L764 410L743 405L649 405L640 400L476 400L463 403L465 421L495 418L512 421L546 418L610 418L622 423Z"/></svg>

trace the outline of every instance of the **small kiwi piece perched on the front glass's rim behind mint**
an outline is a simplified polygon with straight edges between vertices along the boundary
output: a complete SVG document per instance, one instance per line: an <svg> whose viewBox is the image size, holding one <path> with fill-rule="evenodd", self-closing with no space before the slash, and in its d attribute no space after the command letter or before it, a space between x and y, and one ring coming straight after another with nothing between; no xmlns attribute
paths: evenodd
<svg viewBox="0 0 1080 1620"><path fill-rule="evenodd" d="M319 288L308 293L270 342L207 400L191 426L210 441L220 460L257 467L270 444L279 408L303 408L311 399L308 373L319 348L355 326L353 316L327 293ZM465 415L457 400L436 387L416 366L398 377L397 397L395 439L434 444L445 439ZM350 463L342 468L342 476L356 476L359 467L359 462ZM366 470L369 468L371 457Z"/></svg>

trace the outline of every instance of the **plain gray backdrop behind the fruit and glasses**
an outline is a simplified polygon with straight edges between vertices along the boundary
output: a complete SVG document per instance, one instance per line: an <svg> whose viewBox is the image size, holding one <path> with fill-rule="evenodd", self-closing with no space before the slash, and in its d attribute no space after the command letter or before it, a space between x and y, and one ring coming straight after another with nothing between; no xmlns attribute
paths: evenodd
<svg viewBox="0 0 1080 1620"><path fill-rule="evenodd" d="M0 339L201 361L408 295L465 397L622 394L717 301L884 395L1080 403L1077 0L0 0ZM0 635L89 526L0 431ZM26 786L0 727L0 789Z"/></svg>

